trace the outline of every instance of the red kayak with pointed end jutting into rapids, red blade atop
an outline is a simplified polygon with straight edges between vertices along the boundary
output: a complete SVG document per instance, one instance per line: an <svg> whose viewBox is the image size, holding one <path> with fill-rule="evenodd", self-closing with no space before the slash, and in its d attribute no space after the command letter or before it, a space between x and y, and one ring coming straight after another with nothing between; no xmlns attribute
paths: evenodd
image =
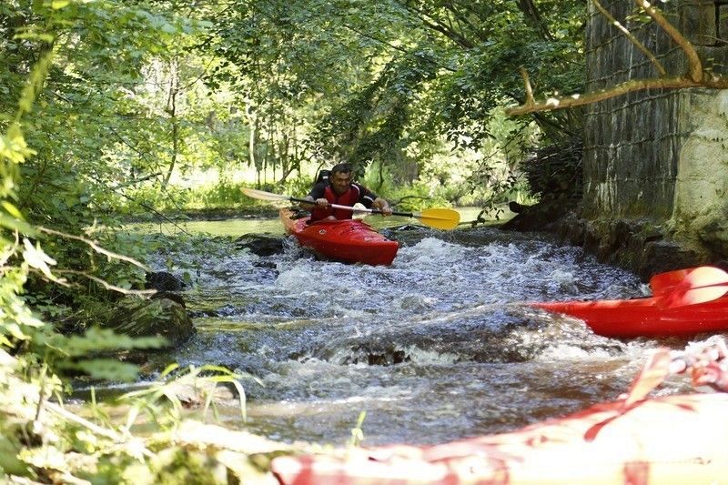
<svg viewBox="0 0 728 485"><path fill-rule="evenodd" d="M728 331L728 274L712 267L655 275L653 296L530 305L581 318L604 337L691 336Z"/></svg>

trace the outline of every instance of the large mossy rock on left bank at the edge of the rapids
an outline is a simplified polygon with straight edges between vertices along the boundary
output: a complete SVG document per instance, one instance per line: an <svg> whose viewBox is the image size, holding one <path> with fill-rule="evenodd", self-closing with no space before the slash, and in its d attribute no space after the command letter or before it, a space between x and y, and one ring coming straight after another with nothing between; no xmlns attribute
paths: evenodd
<svg viewBox="0 0 728 485"><path fill-rule="evenodd" d="M176 348L195 333L185 308L170 298L122 300L106 324L129 337L164 337Z"/></svg>

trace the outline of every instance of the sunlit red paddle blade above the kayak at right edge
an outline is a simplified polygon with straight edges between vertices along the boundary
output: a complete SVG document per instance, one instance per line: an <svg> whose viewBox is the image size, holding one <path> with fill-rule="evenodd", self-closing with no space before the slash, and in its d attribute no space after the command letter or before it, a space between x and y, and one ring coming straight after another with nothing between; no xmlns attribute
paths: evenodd
<svg viewBox="0 0 728 485"><path fill-rule="evenodd" d="M666 288L657 300L657 304L662 308L697 305L721 298L726 293L728 293L728 273L720 268L702 266L690 268L681 282L672 288Z"/></svg>

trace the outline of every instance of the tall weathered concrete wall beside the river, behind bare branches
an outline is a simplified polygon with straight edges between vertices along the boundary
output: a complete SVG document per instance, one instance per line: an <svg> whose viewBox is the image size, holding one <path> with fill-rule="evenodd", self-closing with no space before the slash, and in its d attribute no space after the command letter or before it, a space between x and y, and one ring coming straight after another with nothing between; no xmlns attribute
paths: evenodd
<svg viewBox="0 0 728 485"><path fill-rule="evenodd" d="M657 3L699 51L706 67L728 74L728 2ZM658 76L652 62L589 2L587 91ZM671 76L687 61L662 29L639 18L631 0L602 5L637 36ZM587 107L584 205L589 218L644 218L673 237L728 249L728 92L651 90ZM723 256L728 256L724 252Z"/></svg>

